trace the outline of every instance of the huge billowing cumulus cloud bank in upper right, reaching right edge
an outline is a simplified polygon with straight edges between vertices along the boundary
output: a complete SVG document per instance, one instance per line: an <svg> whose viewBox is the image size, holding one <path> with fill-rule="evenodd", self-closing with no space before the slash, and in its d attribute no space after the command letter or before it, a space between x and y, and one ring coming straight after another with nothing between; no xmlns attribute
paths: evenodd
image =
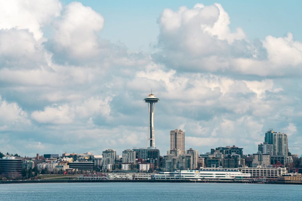
<svg viewBox="0 0 302 201"><path fill-rule="evenodd" d="M254 43L241 28L232 32L222 5L197 4L191 9L165 9L153 60L177 71L218 72L256 76L301 74L301 43L293 34L267 36Z"/></svg>

